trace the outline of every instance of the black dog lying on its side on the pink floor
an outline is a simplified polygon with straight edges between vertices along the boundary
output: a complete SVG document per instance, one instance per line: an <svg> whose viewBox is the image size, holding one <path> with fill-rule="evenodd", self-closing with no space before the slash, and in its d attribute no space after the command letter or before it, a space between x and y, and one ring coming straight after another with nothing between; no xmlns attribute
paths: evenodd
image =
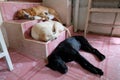
<svg viewBox="0 0 120 80"><path fill-rule="evenodd" d="M68 71L65 63L75 61L88 71L103 75L101 69L93 66L79 54L80 49L96 55L100 61L105 59L105 56L93 48L83 36L73 36L62 41L55 48L52 54L48 56L48 64L46 66L64 74Z"/></svg>

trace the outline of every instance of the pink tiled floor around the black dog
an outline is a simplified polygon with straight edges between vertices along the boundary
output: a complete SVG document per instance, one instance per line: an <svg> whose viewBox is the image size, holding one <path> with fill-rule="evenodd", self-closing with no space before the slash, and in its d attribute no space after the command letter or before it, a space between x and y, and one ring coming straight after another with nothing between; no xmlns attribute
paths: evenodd
<svg viewBox="0 0 120 80"><path fill-rule="evenodd" d="M67 63L68 73L62 75L45 67L43 60L10 49L14 70L8 71L5 61L0 59L0 80L120 80L120 38L89 34L87 39L106 56L104 61L99 62L92 54L80 51L81 55L104 71L101 77L86 71L75 62Z"/></svg>

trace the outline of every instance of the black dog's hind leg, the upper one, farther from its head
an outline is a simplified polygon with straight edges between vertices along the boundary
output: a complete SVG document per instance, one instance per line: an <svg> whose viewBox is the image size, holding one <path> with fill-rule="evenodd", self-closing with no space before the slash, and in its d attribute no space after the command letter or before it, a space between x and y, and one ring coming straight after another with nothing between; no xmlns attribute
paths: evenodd
<svg viewBox="0 0 120 80"><path fill-rule="evenodd" d="M90 43L85 39L83 36L78 36L77 39L81 43L81 49L87 52L90 52L94 55L96 55L100 61L105 59L105 56L101 54L96 48L92 47Z"/></svg>

